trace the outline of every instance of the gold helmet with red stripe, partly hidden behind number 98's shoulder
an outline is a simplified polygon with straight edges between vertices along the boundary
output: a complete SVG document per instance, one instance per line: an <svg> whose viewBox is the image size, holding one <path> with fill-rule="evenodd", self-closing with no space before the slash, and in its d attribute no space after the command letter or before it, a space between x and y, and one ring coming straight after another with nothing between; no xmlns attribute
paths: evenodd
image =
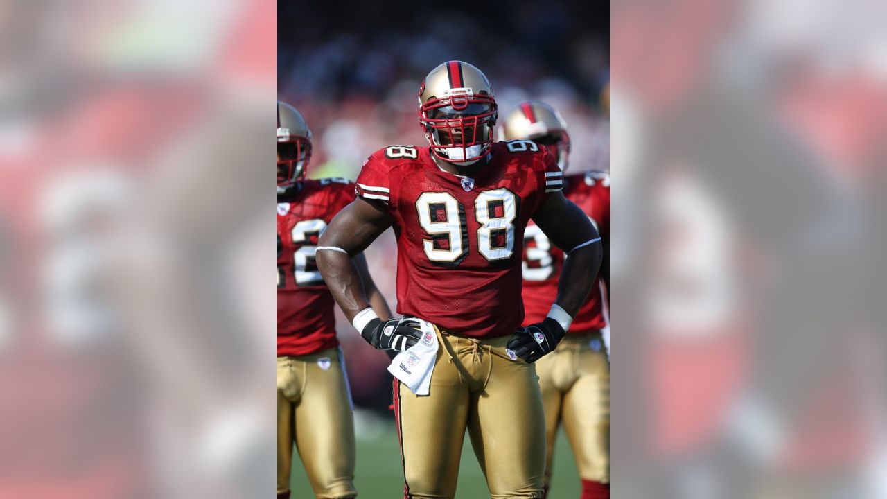
<svg viewBox="0 0 887 499"><path fill-rule="evenodd" d="M527 139L536 142L554 154L561 171L567 170L570 147L567 123L560 113L545 102L522 102L506 117L499 135L503 140Z"/></svg>

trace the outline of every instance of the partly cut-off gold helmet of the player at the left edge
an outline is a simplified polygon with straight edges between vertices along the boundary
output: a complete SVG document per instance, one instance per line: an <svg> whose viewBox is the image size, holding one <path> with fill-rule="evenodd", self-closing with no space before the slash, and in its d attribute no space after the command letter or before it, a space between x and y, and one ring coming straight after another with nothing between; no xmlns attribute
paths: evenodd
<svg viewBox="0 0 887 499"><path fill-rule="evenodd" d="M305 177L311 159L311 131L295 107L278 100L278 193Z"/></svg>

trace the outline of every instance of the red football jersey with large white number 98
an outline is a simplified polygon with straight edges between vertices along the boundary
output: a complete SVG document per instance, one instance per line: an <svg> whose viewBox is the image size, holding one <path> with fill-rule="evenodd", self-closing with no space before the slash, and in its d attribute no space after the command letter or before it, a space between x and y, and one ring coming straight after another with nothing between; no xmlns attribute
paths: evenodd
<svg viewBox="0 0 887 499"><path fill-rule="evenodd" d="M474 177L442 170L428 147L385 147L357 194L388 205L397 238L397 312L468 337L521 326L523 230L563 186L554 157L529 140L497 142Z"/></svg>

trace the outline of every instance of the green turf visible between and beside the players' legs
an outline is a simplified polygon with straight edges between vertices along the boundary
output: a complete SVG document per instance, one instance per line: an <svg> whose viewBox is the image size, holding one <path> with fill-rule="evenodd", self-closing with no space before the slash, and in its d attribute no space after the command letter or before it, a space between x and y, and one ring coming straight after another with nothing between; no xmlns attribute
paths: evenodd
<svg viewBox="0 0 887 499"><path fill-rule="evenodd" d="M400 450L394 421L362 421L357 417L357 471L355 487L362 499L396 499L404 494L404 474L401 470ZM293 498L308 499L314 495L308 478L302 469L298 456L293 465ZM575 499L579 496L580 485L569 450L567 439L561 430L554 456L554 476L549 499ZM459 465L459 486L457 499L483 499L490 497L483 473L477 464L471 442L467 439L462 447L462 460Z"/></svg>

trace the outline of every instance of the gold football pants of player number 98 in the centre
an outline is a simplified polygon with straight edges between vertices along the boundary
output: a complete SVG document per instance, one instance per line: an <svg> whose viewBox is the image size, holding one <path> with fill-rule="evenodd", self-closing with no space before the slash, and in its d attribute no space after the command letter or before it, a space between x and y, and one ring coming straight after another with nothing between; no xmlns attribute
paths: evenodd
<svg viewBox="0 0 887 499"><path fill-rule="evenodd" d="M404 497L455 495L466 429L492 499L542 497L545 424L535 366L508 358L511 336L438 337L429 394L395 380Z"/></svg>

